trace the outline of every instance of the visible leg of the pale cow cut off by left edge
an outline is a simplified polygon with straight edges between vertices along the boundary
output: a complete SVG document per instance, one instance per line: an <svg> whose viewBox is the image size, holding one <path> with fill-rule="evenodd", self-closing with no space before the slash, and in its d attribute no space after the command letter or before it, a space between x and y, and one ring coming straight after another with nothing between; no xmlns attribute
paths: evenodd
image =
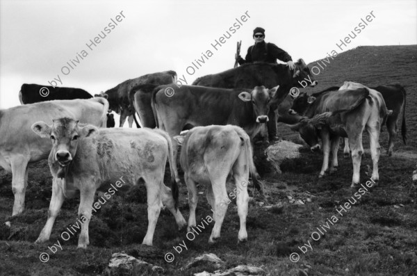
<svg viewBox="0 0 417 276"><path fill-rule="evenodd" d="M23 155L13 156L10 160L10 167L12 168L12 190L15 195L12 216L19 215L24 210L24 197L28 179L28 161L29 159Z"/></svg>

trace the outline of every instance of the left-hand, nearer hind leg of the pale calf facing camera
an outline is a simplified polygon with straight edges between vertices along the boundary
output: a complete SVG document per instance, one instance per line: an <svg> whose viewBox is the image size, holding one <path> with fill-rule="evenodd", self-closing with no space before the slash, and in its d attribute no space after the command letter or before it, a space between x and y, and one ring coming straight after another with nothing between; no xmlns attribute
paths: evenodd
<svg viewBox="0 0 417 276"><path fill-rule="evenodd" d="M161 177L147 177L145 179L147 190L147 211L148 211L148 228L143 238L142 244L151 245L154 238L156 222L158 222L159 213L161 213L161 186L159 183L163 182Z"/></svg>

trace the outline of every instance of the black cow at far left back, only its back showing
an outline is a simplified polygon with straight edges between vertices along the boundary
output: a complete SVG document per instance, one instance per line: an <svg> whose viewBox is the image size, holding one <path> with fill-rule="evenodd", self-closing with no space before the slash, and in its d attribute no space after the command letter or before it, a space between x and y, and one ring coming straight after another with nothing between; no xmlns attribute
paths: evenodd
<svg viewBox="0 0 417 276"><path fill-rule="evenodd" d="M46 88L46 89L45 89ZM39 84L22 84L19 92L21 104L35 104L54 99L90 99L92 95L81 88L40 86Z"/></svg>

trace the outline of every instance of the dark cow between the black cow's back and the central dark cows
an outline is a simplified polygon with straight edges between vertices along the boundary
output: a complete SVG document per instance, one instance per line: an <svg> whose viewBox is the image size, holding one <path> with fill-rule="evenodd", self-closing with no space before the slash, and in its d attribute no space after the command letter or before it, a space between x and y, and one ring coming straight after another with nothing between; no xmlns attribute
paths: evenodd
<svg viewBox="0 0 417 276"><path fill-rule="evenodd" d="M129 127L132 127L133 120L135 120L136 127L139 128L140 125L135 117L133 100L129 97L130 91L134 90L136 86L145 83L162 85L174 83L175 81L177 81L177 73L172 70L156 72L153 74L145 74L144 76L139 76L136 79L128 79L123 81L114 88L95 95L95 97L107 97L111 110L115 111L117 114L120 114L119 127L122 127L124 121L126 121L126 117L129 117Z"/></svg>

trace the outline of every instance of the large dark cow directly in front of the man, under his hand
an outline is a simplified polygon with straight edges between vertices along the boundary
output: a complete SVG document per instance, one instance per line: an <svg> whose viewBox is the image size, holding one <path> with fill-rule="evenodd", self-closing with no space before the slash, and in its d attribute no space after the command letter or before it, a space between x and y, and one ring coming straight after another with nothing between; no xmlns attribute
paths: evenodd
<svg viewBox="0 0 417 276"><path fill-rule="evenodd" d="M272 63L247 63L245 65L230 69L218 74L202 76L193 82L195 86L209 86L217 88L253 88L255 86L265 86L273 88L279 86L275 97L271 100L271 108L268 113L270 118L268 129L270 129L270 138L272 133L277 133L277 116L275 110L282 104L292 104L292 99L286 97L291 88L304 88L306 86L316 86L318 81L313 79L309 67L301 58L295 63L295 69L292 72L286 64ZM279 117L285 120L286 113L279 113Z"/></svg>

